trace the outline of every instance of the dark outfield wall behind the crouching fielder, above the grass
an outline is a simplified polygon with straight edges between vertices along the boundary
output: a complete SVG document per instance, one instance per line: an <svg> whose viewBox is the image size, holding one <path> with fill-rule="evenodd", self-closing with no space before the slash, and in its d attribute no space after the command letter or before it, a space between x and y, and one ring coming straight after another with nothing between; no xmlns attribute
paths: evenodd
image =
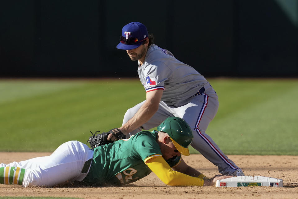
<svg viewBox="0 0 298 199"><path fill-rule="evenodd" d="M298 0L0 1L0 76L137 76L132 21L205 76L298 76Z"/></svg>

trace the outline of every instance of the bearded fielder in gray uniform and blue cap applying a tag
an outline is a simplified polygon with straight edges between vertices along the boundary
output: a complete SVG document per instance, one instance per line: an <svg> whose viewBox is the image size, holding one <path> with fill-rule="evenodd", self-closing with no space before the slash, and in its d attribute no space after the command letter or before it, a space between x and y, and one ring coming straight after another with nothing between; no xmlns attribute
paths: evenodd
<svg viewBox="0 0 298 199"><path fill-rule="evenodd" d="M138 75L146 91L146 100L127 110L118 129L131 136L158 126L168 117L183 118L192 128L191 146L218 166L219 173L244 175L205 133L219 107L218 96L205 77L153 44L153 36L139 22L123 27L117 48L126 50L131 60L138 60Z"/></svg>

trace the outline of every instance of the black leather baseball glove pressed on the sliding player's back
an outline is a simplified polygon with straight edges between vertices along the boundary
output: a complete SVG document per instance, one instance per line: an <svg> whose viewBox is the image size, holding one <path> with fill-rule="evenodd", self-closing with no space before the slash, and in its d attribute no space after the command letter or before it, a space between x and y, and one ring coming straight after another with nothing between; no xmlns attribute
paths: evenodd
<svg viewBox="0 0 298 199"><path fill-rule="evenodd" d="M97 131L97 132L99 132L99 131ZM126 136L118 128L113 128L109 132L103 132L101 134L97 134L97 132L95 132L94 134L91 132L92 136L90 136L89 140L87 140L87 142L89 142L89 144L90 144L91 149L94 149L97 146L112 143L117 140L126 139ZM108 136L111 133L115 136L114 141L108 141Z"/></svg>

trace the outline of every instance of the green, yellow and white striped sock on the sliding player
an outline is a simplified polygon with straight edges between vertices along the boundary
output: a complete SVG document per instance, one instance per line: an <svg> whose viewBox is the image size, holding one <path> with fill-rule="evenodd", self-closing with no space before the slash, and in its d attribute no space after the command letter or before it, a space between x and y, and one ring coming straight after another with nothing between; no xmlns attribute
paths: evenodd
<svg viewBox="0 0 298 199"><path fill-rule="evenodd" d="M20 167L1 167L0 184L22 184L26 169Z"/></svg>

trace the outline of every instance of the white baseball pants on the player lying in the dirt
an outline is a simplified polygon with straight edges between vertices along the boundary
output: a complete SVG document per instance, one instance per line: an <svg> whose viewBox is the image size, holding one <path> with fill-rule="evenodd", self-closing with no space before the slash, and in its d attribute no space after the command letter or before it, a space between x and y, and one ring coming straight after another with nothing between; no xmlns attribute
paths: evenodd
<svg viewBox="0 0 298 199"><path fill-rule="evenodd" d="M93 150L79 141L65 142L50 156L32 158L0 167L26 169L22 186L54 186L82 181L88 174L82 173L85 162L93 158ZM91 161L88 161L91 162ZM85 172L85 171L84 171Z"/></svg>

